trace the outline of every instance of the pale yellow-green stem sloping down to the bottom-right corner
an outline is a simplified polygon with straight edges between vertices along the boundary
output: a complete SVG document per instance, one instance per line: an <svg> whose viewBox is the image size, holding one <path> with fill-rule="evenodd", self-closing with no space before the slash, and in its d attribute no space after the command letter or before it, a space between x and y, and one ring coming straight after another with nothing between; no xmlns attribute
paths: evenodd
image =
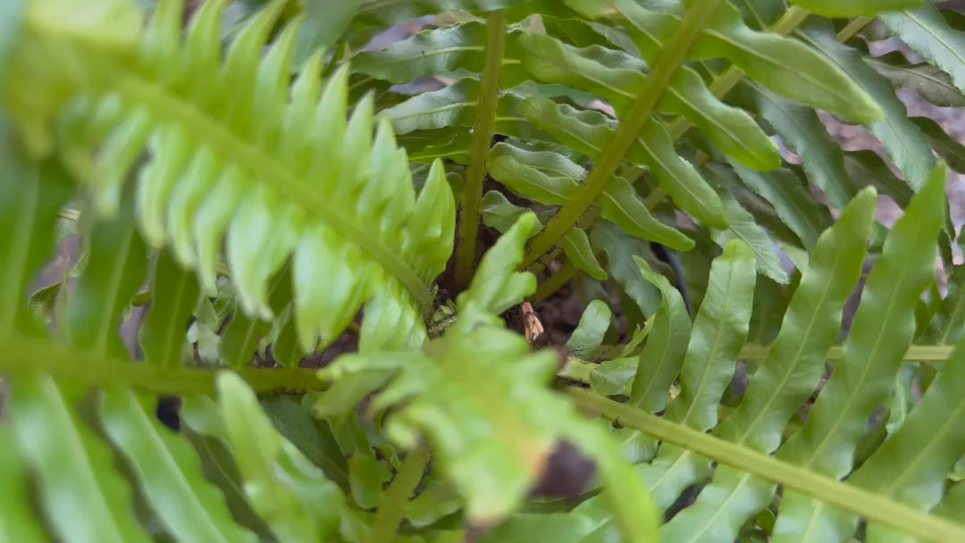
<svg viewBox="0 0 965 543"><path fill-rule="evenodd" d="M965 526L929 515L912 506L789 464L769 454L746 448L684 424L667 421L626 404L571 388L578 404L591 408L607 419L646 432L663 442L692 450L718 463L726 464L764 480L783 485L842 511L865 518L869 523L892 527L926 541L965 541Z"/></svg>

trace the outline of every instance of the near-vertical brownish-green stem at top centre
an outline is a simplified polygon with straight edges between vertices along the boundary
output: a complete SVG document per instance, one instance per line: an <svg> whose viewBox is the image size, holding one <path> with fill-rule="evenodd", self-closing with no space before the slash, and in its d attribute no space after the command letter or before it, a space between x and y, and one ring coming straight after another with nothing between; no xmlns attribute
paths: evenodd
<svg viewBox="0 0 965 543"><path fill-rule="evenodd" d="M496 129L496 106L499 105L499 75L503 70L506 48L506 10L489 14L485 21L485 59L480 77L479 106L469 147L469 172L462 187L459 205L459 243L455 254L455 285L469 285L476 267L476 238L480 228L480 202L483 180L488 172L489 149Z"/></svg>

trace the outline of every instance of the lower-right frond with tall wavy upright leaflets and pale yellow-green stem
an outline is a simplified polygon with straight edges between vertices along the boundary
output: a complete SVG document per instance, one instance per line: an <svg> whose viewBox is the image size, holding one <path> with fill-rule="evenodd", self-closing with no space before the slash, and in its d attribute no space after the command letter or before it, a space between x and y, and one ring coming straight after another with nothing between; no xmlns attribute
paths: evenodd
<svg viewBox="0 0 965 543"><path fill-rule="evenodd" d="M961 402L950 393L960 385L960 348L920 402L902 407L889 399L904 386L896 381L902 361L915 360L906 352L916 336L914 308L935 277L945 177L944 165L937 167L888 235L831 376L820 387L842 307L862 271L874 216L872 189L861 191L817 240L777 338L732 409L721 411L720 404L735 363L749 354L743 347L754 275L747 269L753 261L747 247L731 242L714 260L686 349L679 348L681 339L670 340L688 336L686 328L673 326L682 312L679 296L641 262L645 277L664 293L646 347L624 349L630 357L614 358L585 377L599 394L625 396L629 402L587 393L577 397L651 436L644 441L638 474L659 507L682 509L660 529L661 541L740 540L752 536L749 521L765 530L760 536L776 541L845 541L859 519L867 522L869 540L953 541L965 534L965 525L926 514L945 498L947 477L965 454ZM960 299L953 293L938 303L948 315L948 306ZM609 315L602 330L608 321ZM946 329L938 322L934 331L960 336L960 323ZM590 342L591 349L600 339L602 333ZM579 375L573 364L565 369L571 378ZM667 391L677 379L679 390L668 403ZM806 421L789 425L815 390ZM880 419L874 414L884 402L896 405L896 411ZM665 409L662 418L649 415ZM869 431L869 418L880 420L882 430L888 422L883 444ZM703 433L708 430L712 437ZM659 447L649 441L653 438ZM675 505L695 484L699 494ZM775 500L779 487L783 492ZM946 510L955 506L950 503ZM771 522L760 522L760 515ZM605 524L607 518L591 500L547 523L575 530L561 541L583 541L586 533L579 527ZM528 519L510 522L501 536L526 533Z"/></svg>

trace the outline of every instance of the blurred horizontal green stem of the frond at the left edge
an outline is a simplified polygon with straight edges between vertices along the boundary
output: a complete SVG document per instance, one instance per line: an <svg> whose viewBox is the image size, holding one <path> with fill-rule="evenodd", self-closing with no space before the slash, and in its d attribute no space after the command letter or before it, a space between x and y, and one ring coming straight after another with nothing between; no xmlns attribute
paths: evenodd
<svg viewBox="0 0 965 543"><path fill-rule="evenodd" d="M215 378L222 368L158 367L91 355L61 346L51 339L12 334L0 340L0 373L13 376L45 372L55 379L71 379L92 386L117 385L157 394L214 394ZM321 391L327 385L316 370L236 370L258 394L285 391Z"/></svg>

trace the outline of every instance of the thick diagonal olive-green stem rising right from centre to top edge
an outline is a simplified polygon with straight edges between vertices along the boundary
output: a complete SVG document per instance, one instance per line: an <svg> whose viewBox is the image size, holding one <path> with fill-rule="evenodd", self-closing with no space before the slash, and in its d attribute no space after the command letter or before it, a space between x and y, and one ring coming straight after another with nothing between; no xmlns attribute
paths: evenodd
<svg viewBox="0 0 965 543"><path fill-rule="evenodd" d="M606 187L607 182L617 172L623 156L633 146L641 128L650 121L657 100L670 84L676 70L686 60L691 45L700 36L721 1L699 0L687 10L676 27L674 35L661 51L659 60L648 74L647 82L640 95L634 98L625 114L621 116L616 136L594 164L593 171L584 180L574 197L531 242L529 253L523 262L524 268L551 250Z"/></svg>

